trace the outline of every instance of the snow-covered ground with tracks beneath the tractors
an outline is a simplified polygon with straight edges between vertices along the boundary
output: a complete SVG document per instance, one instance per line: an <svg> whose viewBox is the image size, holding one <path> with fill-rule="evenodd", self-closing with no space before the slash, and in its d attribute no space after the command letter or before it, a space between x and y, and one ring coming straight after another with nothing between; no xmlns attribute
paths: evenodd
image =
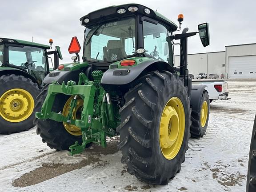
<svg viewBox="0 0 256 192"><path fill-rule="evenodd" d="M0 191L243 192L256 112L256 82L228 81L228 91L231 100L211 104L206 135L199 140L189 140L181 171L168 185L148 185L129 175L125 165L120 163L121 152L97 152L95 147L74 157L65 151L56 152L43 144L36 135L36 128L32 128L26 132L0 135ZM24 181L26 187L12 185L13 180L37 168L44 174L42 164L77 164L92 157L94 160L83 167L38 184L26 186ZM32 177L32 180L36 178Z"/></svg>

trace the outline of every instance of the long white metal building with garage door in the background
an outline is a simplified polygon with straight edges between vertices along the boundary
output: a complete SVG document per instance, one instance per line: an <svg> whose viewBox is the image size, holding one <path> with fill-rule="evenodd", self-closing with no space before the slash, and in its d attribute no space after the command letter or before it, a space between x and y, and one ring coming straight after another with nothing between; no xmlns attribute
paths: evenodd
<svg viewBox="0 0 256 192"><path fill-rule="evenodd" d="M180 56L175 56L179 66ZM217 73L230 79L256 78L256 43L226 46L223 52L208 52L188 55L188 70L198 73Z"/></svg>

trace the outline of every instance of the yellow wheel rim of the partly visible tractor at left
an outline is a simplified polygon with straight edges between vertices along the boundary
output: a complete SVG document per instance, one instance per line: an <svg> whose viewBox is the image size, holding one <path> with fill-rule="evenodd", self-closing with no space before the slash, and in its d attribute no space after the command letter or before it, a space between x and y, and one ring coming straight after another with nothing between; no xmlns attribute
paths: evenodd
<svg viewBox="0 0 256 192"><path fill-rule="evenodd" d="M32 95L24 89L10 89L0 97L0 116L12 123L28 119L34 107Z"/></svg>

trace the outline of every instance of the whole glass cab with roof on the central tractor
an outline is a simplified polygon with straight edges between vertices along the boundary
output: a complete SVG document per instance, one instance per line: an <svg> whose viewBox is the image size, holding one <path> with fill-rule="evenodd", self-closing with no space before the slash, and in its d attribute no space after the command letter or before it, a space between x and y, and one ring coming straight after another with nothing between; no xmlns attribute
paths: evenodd
<svg viewBox="0 0 256 192"><path fill-rule="evenodd" d="M84 62L108 66L130 57L148 57L173 65L168 34L177 26L139 4L112 6L80 19L84 33Z"/></svg>

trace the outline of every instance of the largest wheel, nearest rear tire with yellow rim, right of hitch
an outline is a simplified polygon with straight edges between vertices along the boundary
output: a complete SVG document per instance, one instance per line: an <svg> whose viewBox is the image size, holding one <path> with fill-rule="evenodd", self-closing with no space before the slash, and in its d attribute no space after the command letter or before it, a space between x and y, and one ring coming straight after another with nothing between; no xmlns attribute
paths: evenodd
<svg viewBox="0 0 256 192"><path fill-rule="evenodd" d="M167 184L180 171L188 149L190 107L184 81L170 72L154 72L124 98L117 128L121 162L141 181Z"/></svg>

